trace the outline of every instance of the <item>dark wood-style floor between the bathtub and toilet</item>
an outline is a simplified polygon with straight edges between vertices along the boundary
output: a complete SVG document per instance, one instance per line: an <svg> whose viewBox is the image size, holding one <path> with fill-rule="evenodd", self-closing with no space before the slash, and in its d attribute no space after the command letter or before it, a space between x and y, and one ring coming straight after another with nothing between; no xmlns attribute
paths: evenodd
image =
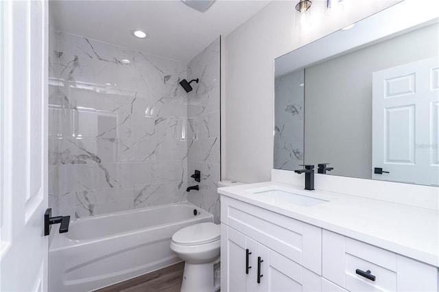
<svg viewBox="0 0 439 292"><path fill-rule="evenodd" d="M184 269L181 262L95 292L180 292Z"/></svg>

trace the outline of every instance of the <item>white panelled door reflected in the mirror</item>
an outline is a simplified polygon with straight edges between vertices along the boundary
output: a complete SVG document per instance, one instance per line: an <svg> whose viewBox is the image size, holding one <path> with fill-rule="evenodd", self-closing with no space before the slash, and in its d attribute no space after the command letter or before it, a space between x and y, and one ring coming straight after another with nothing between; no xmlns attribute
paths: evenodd
<svg viewBox="0 0 439 292"><path fill-rule="evenodd" d="M374 72L372 82L372 178L438 186L438 57Z"/></svg>

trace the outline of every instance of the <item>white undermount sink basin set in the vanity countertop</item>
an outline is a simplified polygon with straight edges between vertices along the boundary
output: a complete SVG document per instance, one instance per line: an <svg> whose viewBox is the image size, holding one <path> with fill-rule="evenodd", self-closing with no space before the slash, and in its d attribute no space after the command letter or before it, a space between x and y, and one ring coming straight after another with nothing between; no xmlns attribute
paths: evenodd
<svg viewBox="0 0 439 292"><path fill-rule="evenodd" d="M292 188L281 186L268 186L264 188L253 188L247 190L254 195L260 196L258 199L271 204L294 204L300 206L315 206L329 202L327 199L318 199L305 194L299 194L299 191Z"/></svg>

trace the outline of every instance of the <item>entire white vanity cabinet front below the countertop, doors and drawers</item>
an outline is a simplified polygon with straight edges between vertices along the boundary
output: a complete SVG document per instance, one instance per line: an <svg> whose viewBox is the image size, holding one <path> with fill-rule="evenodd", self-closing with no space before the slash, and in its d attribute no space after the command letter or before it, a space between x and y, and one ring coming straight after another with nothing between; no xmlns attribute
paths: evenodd
<svg viewBox="0 0 439 292"><path fill-rule="evenodd" d="M437 267L276 208L221 199L224 291L438 291Z"/></svg>

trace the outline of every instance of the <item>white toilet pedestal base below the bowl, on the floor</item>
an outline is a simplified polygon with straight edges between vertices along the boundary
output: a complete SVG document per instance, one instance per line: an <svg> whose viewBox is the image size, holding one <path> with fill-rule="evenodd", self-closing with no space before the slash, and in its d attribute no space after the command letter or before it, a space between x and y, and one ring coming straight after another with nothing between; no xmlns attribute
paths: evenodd
<svg viewBox="0 0 439 292"><path fill-rule="evenodd" d="M219 279L215 281L214 265L219 258L205 264L185 263L181 292L215 292L219 290ZM216 285L215 285L216 284Z"/></svg>

